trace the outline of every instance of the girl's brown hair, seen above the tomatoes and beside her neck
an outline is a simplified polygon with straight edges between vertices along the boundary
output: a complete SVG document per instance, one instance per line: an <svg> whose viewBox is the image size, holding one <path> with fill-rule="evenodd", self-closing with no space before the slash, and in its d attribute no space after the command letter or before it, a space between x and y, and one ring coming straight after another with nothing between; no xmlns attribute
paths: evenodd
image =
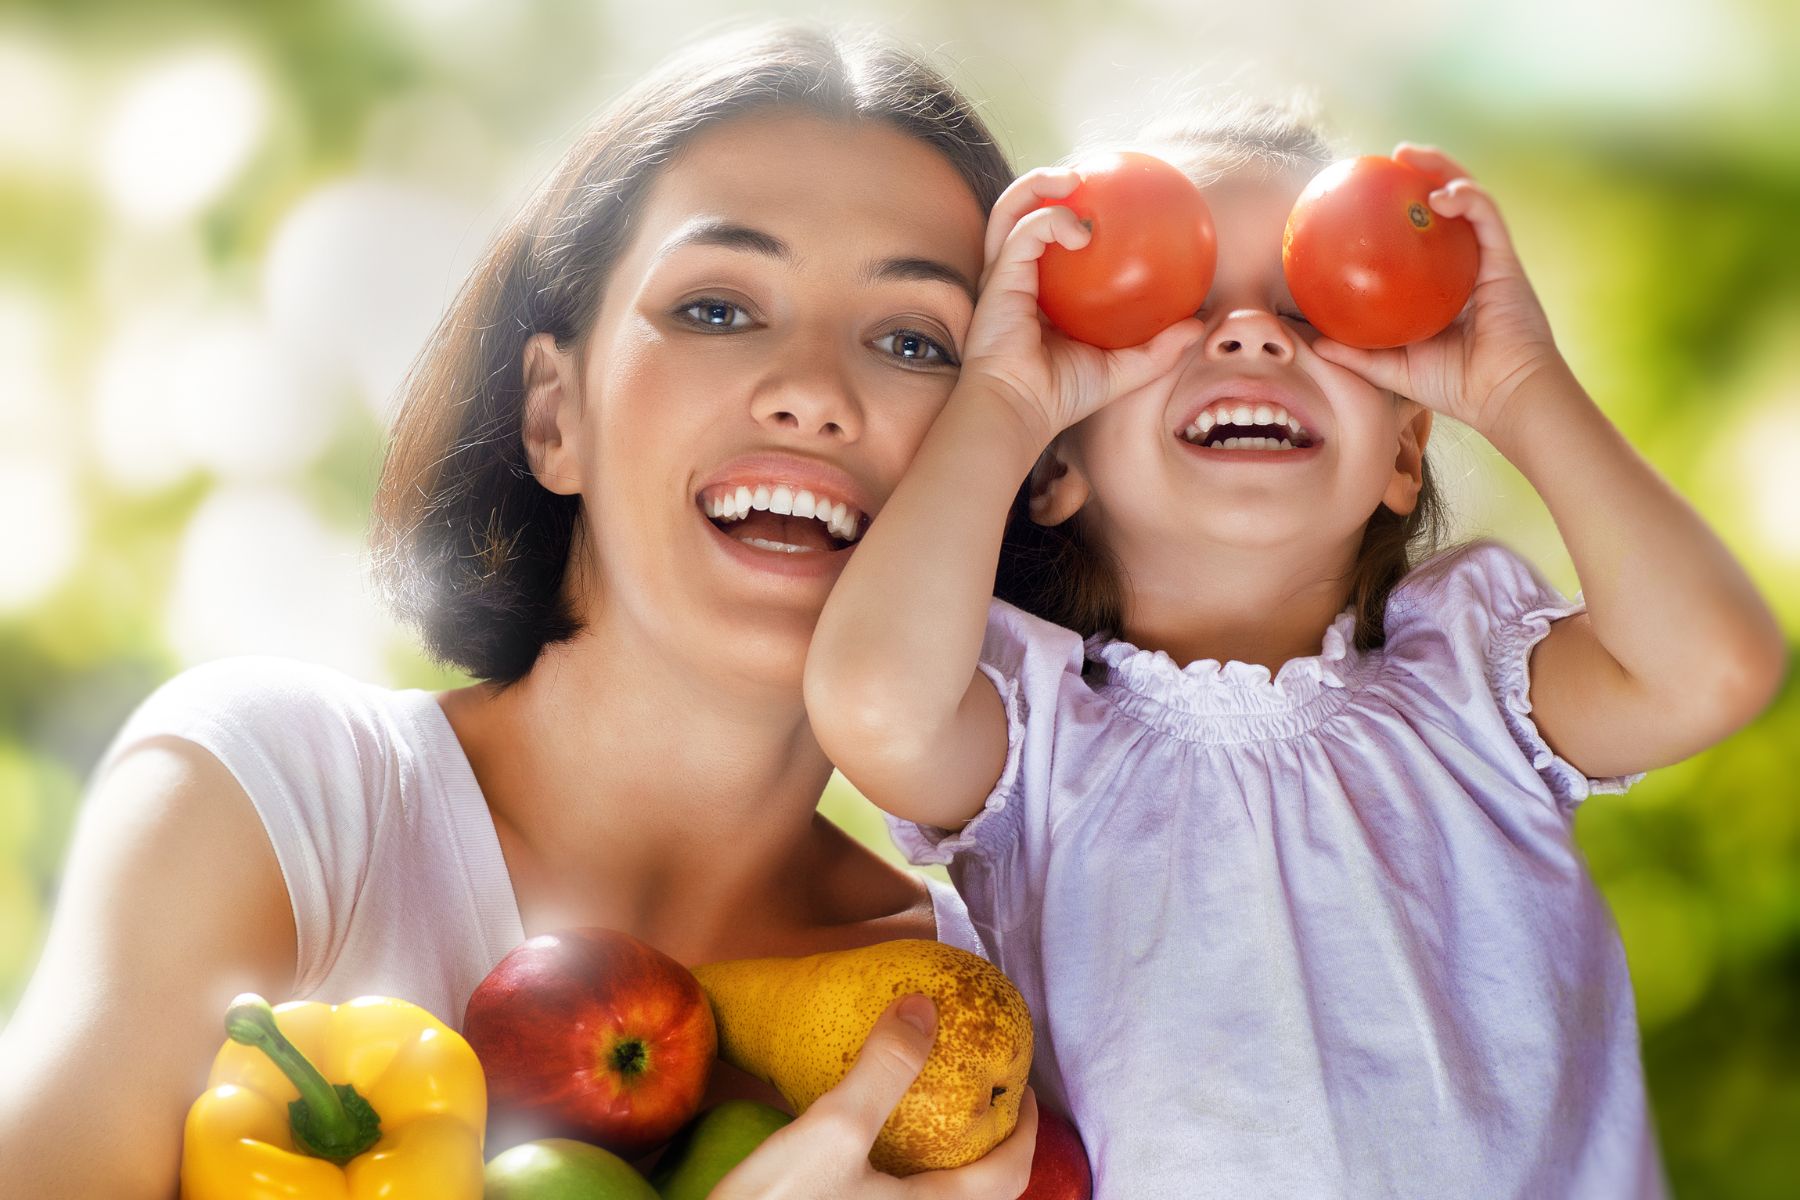
<svg viewBox="0 0 1800 1200"><path fill-rule="evenodd" d="M1193 115L1157 119L1130 144L1179 158L1202 187L1240 171L1260 171L1265 178L1312 176L1336 158L1330 140L1300 103L1242 97L1208 104ZM1429 462L1422 473L1411 513L1402 516L1381 506L1363 531L1350 578L1359 649L1382 644L1388 596L1438 545L1442 500ZM1130 587L1123 569L1084 525L1082 513L1060 525L1033 522L1030 493L1031 480L1026 480L1006 518L994 594L1084 637L1118 633Z"/></svg>

